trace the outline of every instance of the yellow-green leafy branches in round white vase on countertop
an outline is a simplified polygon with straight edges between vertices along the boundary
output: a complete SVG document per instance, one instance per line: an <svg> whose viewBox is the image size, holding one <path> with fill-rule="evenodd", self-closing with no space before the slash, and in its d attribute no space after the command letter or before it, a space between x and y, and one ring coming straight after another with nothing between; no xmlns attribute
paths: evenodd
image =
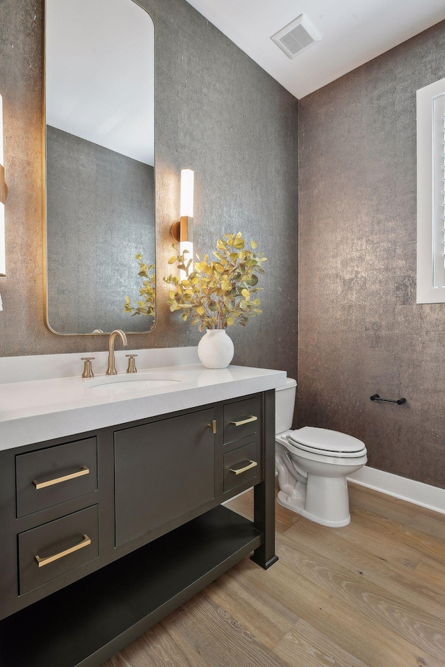
<svg viewBox="0 0 445 667"><path fill-rule="evenodd" d="M181 311L186 322L191 318L193 326L206 329L198 345L198 355L207 368L226 368L234 356L232 339L227 327L241 324L261 313L257 294L258 275L264 273L266 257L255 252L257 244L250 242L246 249L241 231L218 238L213 259L206 254L197 261L188 258L188 251L176 254L168 263L176 264L185 278L169 275L164 278L172 288L167 300L170 311Z"/></svg>

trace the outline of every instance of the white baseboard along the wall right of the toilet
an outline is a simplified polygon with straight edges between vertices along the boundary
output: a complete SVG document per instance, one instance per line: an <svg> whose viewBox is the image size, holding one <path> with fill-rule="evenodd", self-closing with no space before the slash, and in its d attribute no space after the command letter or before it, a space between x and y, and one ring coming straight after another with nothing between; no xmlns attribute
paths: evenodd
<svg viewBox="0 0 445 667"><path fill-rule="evenodd" d="M348 479L360 486L373 488L375 491L445 514L445 488L423 484L421 481L368 466L350 475Z"/></svg>

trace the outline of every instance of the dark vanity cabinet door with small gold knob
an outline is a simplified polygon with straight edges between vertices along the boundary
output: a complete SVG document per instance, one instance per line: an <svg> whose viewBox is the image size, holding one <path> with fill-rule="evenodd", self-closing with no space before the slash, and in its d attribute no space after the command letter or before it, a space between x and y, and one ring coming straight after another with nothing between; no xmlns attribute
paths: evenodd
<svg viewBox="0 0 445 667"><path fill-rule="evenodd" d="M215 497L212 420L208 409L115 432L116 546Z"/></svg>

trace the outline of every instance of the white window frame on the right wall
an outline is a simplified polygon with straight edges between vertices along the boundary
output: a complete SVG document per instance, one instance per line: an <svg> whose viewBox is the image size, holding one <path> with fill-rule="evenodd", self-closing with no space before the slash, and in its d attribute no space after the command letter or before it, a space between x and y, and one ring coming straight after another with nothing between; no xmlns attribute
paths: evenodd
<svg viewBox="0 0 445 667"><path fill-rule="evenodd" d="M437 262L437 231L439 209L442 206L444 191L439 192L442 204L437 197L437 183L444 179L442 167L437 155L437 134L435 107L441 96L445 95L445 79L435 81L417 91L417 303L445 303L445 285L436 286L440 270L435 272ZM445 98L444 98L445 108ZM443 124L443 116L442 116ZM442 149L444 151L444 149ZM442 173L440 173L442 170ZM443 220L442 220L443 224ZM443 257L442 257L443 264ZM442 266L443 276L443 266ZM444 282L442 280L442 282Z"/></svg>

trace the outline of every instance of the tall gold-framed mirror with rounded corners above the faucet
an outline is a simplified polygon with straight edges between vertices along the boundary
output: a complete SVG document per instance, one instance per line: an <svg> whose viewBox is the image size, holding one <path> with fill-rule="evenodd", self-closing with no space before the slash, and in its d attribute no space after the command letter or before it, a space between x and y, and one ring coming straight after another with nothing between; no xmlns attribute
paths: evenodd
<svg viewBox="0 0 445 667"><path fill-rule="evenodd" d="M151 331L152 18L133 0L45 0L44 82L47 326Z"/></svg>

